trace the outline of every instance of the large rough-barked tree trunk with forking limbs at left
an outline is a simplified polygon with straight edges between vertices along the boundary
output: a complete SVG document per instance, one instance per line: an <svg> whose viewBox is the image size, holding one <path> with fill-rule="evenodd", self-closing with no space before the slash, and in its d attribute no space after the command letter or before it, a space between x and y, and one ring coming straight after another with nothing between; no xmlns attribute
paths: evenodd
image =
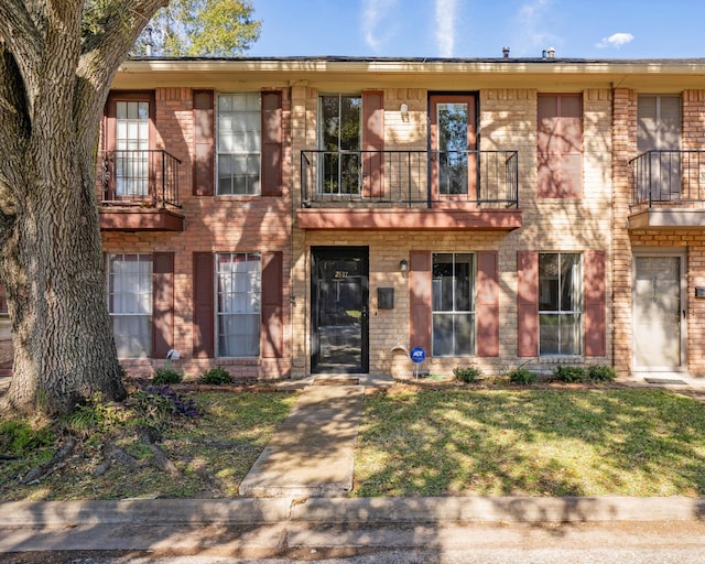
<svg viewBox="0 0 705 564"><path fill-rule="evenodd" d="M167 0L0 0L0 279L14 376L0 413L120 400L95 188L110 83Z"/></svg>

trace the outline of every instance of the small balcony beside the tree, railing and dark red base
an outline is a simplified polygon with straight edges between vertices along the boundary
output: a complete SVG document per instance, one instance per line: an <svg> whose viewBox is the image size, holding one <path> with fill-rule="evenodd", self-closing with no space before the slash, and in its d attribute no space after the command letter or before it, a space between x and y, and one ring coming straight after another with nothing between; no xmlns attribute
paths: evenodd
<svg viewBox="0 0 705 564"><path fill-rule="evenodd" d="M183 231L181 161L162 150L101 151L98 155L100 229Z"/></svg>

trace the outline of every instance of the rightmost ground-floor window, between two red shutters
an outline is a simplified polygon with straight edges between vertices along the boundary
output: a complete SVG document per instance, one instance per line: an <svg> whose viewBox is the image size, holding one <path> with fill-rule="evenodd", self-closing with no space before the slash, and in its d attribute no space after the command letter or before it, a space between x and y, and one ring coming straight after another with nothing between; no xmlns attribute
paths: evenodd
<svg viewBox="0 0 705 564"><path fill-rule="evenodd" d="M582 354L579 253L539 253L539 354Z"/></svg>

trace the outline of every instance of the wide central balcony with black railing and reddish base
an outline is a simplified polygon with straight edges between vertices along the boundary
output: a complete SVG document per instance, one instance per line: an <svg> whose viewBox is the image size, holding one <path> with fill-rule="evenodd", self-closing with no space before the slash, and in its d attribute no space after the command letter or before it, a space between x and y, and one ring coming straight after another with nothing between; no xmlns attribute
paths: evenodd
<svg viewBox="0 0 705 564"><path fill-rule="evenodd" d="M517 151L301 152L302 229L522 225Z"/></svg>

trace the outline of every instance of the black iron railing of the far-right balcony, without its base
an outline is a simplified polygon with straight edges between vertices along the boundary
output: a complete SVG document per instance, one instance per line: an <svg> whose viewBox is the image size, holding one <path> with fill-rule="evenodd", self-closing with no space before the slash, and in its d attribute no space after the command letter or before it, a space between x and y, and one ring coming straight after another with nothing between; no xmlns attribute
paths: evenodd
<svg viewBox="0 0 705 564"><path fill-rule="evenodd" d="M629 165L632 209L705 207L705 151L647 151Z"/></svg>

